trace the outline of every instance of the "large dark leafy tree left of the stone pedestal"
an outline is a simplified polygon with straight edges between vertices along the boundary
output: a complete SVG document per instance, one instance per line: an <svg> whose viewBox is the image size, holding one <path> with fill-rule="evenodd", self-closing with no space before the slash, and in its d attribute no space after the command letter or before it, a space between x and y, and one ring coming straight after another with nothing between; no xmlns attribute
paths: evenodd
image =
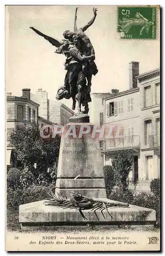
<svg viewBox="0 0 165 256"><path fill-rule="evenodd" d="M28 129L17 127L11 133L10 144L15 148L17 160L37 177L42 173L47 175L47 169L56 162L60 150L60 137L52 138L50 135L49 138L42 138L39 125L33 124Z"/></svg>

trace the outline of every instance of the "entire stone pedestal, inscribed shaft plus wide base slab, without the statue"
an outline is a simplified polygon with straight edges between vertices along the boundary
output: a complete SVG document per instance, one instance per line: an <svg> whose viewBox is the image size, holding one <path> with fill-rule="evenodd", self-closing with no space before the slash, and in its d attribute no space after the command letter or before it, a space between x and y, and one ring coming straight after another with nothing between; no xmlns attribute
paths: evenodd
<svg viewBox="0 0 165 256"><path fill-rule="evenodd" d="M84 117L85 116L85 117ZM56 193L70 198L71 193L95 200L113 202L106 199L103 179L103 164L100 154L96 127L89 123L89 116L75 115L65 126L61 138ZM74 121L74 122L73 122ZM81 121L81 123L79 122ZM86 121L86 122L84 122ZM129 207L112 207L97 210L97 217L92 209L82 210L83 219L78 209L47 206L44 201L19 206L19 222L22 229L37 226L54 225L153 225L156 211L135 205Z"/></svg>

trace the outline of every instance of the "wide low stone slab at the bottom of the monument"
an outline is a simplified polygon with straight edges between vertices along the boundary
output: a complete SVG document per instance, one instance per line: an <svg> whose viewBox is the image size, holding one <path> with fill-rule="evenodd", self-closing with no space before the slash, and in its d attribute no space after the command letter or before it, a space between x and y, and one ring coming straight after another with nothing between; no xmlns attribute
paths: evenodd
<svg viewBox="0 0 165 256"><path fill-rule="evenodd" d="M95 199L95 198L94 198ZM98 199L97 199L98 200ZM100 198L105 202L114 202L106 198ZM156 223L156 211L140 206L108 208L108 213L103 210L82 210L87 220L84 220L76 209L63 209L55 206L47 206L44 201L23 204L19 206L19 223L22 229L36 226L65 226L65 225L153 225Z"/></svg>

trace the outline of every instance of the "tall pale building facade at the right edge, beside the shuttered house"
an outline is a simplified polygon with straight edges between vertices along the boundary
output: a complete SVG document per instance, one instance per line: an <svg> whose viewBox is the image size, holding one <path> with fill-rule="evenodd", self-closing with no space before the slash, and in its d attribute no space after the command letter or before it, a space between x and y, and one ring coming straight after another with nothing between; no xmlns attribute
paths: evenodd
<svg viewBox="0 0 165 256"><path fill-rule="evenodd" d="M141 98L141 177L160 177L160 70L136 77Z"/></svg>

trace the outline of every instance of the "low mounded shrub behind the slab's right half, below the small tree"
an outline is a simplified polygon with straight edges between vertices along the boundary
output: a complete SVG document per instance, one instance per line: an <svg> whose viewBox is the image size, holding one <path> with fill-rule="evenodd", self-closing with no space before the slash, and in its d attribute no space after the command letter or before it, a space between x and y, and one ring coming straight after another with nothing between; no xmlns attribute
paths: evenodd
<svg viewBox="0 0 165 256"><path fill-rule="evenodd" d="M132 204L133 194L130 190L118 188L116 191L113 191L113 193L109 196L109 199Z"/></svg>

